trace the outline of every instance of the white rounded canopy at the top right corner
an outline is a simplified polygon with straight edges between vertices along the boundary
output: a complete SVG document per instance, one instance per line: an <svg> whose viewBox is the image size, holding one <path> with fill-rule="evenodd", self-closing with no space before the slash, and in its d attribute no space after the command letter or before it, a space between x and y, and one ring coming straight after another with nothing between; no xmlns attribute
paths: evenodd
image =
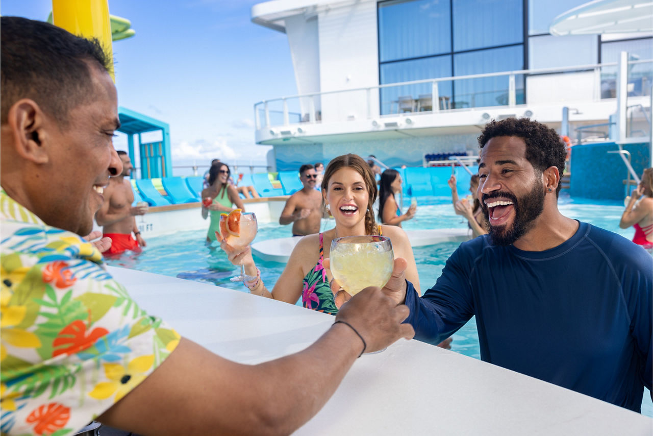
<svg viewBox="0 0 653 436"><path fill-rule="evenodd" d="M554 18L552 35L653 31L653 1L594 0Z"/></svg>

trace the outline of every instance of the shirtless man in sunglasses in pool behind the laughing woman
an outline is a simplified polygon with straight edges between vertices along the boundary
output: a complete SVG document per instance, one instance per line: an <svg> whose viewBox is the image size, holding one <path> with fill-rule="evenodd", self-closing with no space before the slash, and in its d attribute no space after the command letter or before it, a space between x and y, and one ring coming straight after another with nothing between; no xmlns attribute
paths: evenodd
<svg viewBox="0 0 653 436"><path fill-rule="evenodd" d="M317 172L310 163L299 168L299 179L304 187L286 201L279 216L279 224L293 223L293 236L320 233L322 194L316 189Z"/></svg>

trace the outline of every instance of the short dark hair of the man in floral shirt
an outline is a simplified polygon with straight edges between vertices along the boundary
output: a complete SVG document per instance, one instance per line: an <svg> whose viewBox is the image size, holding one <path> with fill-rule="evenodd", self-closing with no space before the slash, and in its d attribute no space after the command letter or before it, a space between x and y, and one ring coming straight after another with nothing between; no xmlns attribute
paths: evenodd
<svg viewBox="0 0 653 436"><path fill-rule="evenodd" d="M68 112L93 98L90 68L111 68L97 39L76 37L56 25L3 16L0 36L2 124L16 101L29 98L67 126Z"/></svg>

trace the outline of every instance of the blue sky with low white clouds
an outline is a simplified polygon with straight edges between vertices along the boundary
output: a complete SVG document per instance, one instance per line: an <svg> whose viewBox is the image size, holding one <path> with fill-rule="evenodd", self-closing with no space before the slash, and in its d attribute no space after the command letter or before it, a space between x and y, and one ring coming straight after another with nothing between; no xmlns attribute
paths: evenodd
<svg viewBox="0 0 653 436"><path fill-rule="evenodd" d="M263 164L253 105L295 95L285 33L251 22L247 0L108 0L135 37L114 42L118 103L170 124L173 165ZM3 0L0 14L46 20L51 0ZM116 148L127 148L124 136ZM175 170L185 175L189 170Z"/></svg>

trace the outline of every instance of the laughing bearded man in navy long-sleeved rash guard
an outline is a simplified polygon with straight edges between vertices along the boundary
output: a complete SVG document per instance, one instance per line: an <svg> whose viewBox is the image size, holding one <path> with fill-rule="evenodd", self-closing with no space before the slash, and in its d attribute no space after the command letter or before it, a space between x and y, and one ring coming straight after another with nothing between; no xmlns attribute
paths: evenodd
<svg viewBox="0 0 653 436"><path fill-rule="evenodd" d="M416 339L438 344L475 315L482 360L639 412L653 373L650 255L560 213L554 130L492 121L479 144L489 234L460 244L422 297L396 273L385 292L411 309Z"/></svg>

